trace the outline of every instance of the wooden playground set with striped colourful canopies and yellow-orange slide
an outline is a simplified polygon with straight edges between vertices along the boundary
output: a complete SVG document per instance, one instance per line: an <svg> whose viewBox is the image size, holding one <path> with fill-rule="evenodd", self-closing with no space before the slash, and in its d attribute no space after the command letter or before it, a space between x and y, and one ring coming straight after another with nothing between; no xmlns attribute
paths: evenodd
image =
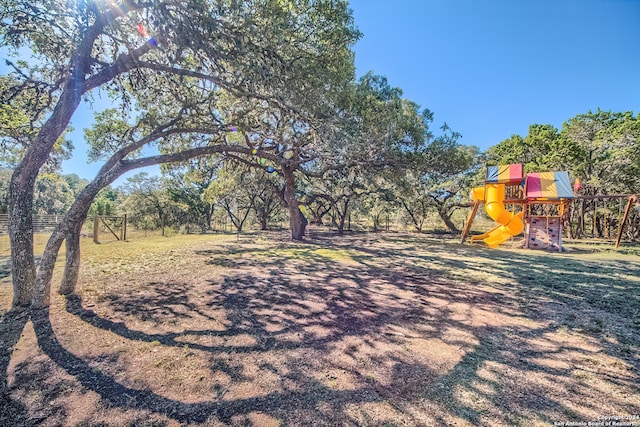
<svg viewBox="0 0 640 427"><path fill-rule="evenodd" d="M631 206L638 201L637 195L628 194L576 196L566 171L534 172L525 176L522 164L488 166L484 186L474 188L470 197L471 212L462 232L462 243L469 236L479 206L484 204L487 215L498 225L486 233L471 236L471 243L484 241L490 248L496 248L524 231L523 247L557 251L562 251L563 219L572 200L629 199L618 228L616 248Z"/></svg>

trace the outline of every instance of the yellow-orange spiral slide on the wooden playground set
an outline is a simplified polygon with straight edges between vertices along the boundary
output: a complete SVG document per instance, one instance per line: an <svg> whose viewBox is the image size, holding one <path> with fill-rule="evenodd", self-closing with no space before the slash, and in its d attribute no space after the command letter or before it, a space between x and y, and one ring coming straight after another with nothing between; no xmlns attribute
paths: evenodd
<svg viewBox="0 0 640 427"><path fill-rule="evenodd" d="M482 189L482 187L480 187ZM474 189L474 198L482 192ZM524 230L522 212L513 214L504 207L504 184L486 184L484 187L484 208L491 219L499 225L484 234L472 236L471 241L484 240L490 248L496 248Z"/></svg>

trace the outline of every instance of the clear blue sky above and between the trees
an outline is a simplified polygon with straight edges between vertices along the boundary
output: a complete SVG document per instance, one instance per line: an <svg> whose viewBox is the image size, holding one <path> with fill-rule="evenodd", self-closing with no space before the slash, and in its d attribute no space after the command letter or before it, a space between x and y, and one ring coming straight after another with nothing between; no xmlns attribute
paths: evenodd
<svg viewBox="0 0 640 427"><path fill-rule="evenodd" d="M486 149L529 125L601 108L640 112L640 0L350 0L358 76L385 75ZM2 67L0 67L2 70ZM4 70L2 70L4 71ZM102 102L104 103L104 101ZM91 179L82 128L64 173ZM157 173L156 169L147 172ZM118 180L118 183L123 179Z"/></svg>

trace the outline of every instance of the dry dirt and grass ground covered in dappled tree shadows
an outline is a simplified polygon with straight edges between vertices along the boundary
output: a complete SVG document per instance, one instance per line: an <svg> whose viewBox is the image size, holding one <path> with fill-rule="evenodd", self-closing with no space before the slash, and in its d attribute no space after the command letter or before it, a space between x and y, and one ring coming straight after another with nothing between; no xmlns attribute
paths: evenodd
<svg viewBox="0 0 640 427"><path fill-rule="evenodd" d="M157 239L86 243L48 313L0 262L0 425L640 426L637 255Z"/></svg>

